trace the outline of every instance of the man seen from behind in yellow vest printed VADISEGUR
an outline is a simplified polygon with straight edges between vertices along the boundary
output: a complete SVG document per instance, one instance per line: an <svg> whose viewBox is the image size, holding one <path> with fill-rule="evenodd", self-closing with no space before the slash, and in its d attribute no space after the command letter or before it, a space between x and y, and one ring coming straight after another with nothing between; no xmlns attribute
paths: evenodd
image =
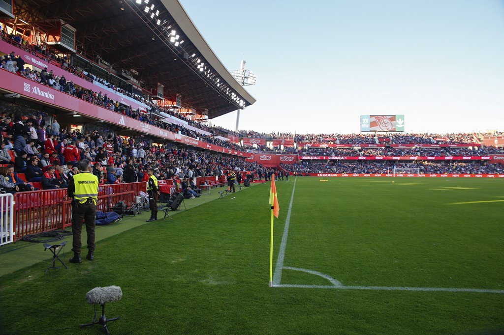
<svg viewBox="0 0 504 335"><path fill-rule="evenodd" d="M82 263L81 260L81 231L82 224L86 223L88 235L88 255L86 259L94 260L95 249L95 221L96 202L98 201L98 178L90 172L91 163L87 159L79 162L80 174L69 178L68 196L72 201L72 233L74 257L70 263Z"/></svg>

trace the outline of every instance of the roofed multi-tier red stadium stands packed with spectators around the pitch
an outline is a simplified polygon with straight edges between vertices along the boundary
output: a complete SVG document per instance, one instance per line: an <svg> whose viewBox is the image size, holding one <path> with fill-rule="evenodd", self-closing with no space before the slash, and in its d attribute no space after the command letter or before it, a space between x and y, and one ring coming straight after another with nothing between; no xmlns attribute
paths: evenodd
<svg viewBox="0 0 504 335"><path fill-rule="evenodd" d="M26 230L29 220L57 217L63 222L61 228L70 222L65 190L42 191L42 181L45 188L50 187L48 183L65 185L69 176L78 173L77 161L84 158L93 162L93 173L100 179L100 197L109 197L101 206L123 200L131 205L134 196L145 190L146 170L151 167L167 192L178 189L183 178L196 179L197 187L202 183L220 186L227 170L242 175L251 171L256 181L287 172L390 174L394 167L419 169L420 174L504 174L502 164L491 159L492 154L502 154L502 132L264 134L210 126L207 119L249 106L255 99L230 76L193 23L180 16L180 4L170 3L179 9L175 14L158 2L158 14L128 2L124 6L129 8L130 20L119 21L115 19L121 13L118 8L104 8L95 0L66 13L57 2L44 2L45 16L37 20L56 22L65 15L76 26L79 52L50 40L48 30L58 27L44 31L37 26L35 35L17 27L17 19L4 20L0 30L0 160L2 166L14 165L10 178L16 184L29 179L38 189L9 190L16 196L19 211L15 219L18 238L59 224L44 221L35 230ZM35 24L26 9L39 6L27 0L14 14L28 25ZM135 28L135 36L128 35L128 40L120 34L96 37L93 32L100 27L95 22L105 12L111 25L119 30ZM145 39L152 36L149 20L158 15L164 18L157 22L159 29L170 26L177 31L172 38L178 36L179 42L145 46ZM187 31L177 26L177 20L185 20ZM121 45L128 45L127 51L118 52ZM151 57L155 52L164 56ZM98 55L107 56L108 61ZM166 70L158 71L161 67ZM167 89L164 94L159 92L162 85ZM48 173L51 166L54 175ZM37 212L42 209L56 216L43 217Z"/></svg>

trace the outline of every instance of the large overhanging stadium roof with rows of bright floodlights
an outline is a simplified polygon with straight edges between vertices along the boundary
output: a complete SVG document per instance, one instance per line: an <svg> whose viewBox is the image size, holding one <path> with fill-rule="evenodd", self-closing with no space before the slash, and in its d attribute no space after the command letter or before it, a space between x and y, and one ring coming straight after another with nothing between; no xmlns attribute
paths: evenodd
<svg viewBox="0 0 504 335"><path fill-rule="evenodd" d="M256 100L231 76L177 0L15 0L15 14L42 31L77 30L77 51L164 85L187 108L214 118ZM61 20L61 21L59 21ZM132 71L133 70L133 71Z"/></svg>

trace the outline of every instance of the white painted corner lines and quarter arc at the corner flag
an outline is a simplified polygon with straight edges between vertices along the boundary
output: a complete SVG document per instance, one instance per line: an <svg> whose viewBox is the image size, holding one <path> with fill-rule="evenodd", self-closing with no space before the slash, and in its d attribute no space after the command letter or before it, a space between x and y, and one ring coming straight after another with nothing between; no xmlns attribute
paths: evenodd
<svg viewBox="0 0 504 335"><path fill-rule="evenodd" d="M340 290L376 290L376 291L425 291L425 292L471 292L471 293L498 293L504 294L504 290L492 290L492 289L471 289L471 288L453 288L453 287L401 287L401 286L344 286L338 280L326 275L322 272L284 267L285 258L285 247L287 245L287 236L289 234L289 224L290 224L290 214L292 212L292 202L294 200L294 190L296 189L296 180L294 178L294 187L292 188L292 195L290 197L289 210L287 212L287 217L285 218L284 233L282 236L282 242L280 243L280 249L278 250L278 258L275 266L275 273L273 275L272 287L293 287L293 288L316 288L316 289L340 289ZM280 284L282 280L282 270L295 270L302 271L312 275L320 276L327 279L332 285L295 285L295 284Z"/></svg>

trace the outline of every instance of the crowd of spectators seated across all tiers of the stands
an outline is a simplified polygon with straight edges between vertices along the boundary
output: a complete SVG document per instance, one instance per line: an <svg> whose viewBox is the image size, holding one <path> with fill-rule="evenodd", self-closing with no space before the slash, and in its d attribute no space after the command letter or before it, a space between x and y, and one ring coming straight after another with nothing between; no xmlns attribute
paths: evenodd
<svg viewBox="0 0 504 335"><path fill-rule="evenodd" d="M127 95L145 104L146 111L136 110L131 105L121 104L107 97L105 92L94 92L76 86L72 80L65 76L58 77L52 70L44 68L41 71L25 68L25 62L15 52L6 54L1 59L0 67L16 72L27 79L37 81L55 90L76 96L79 99L89 100L100 107L107 108L116 113L135 118L142 122L169 130L171 132L197 138L207 143L234 150L247 151L287 151L296 152L294 147L267 146L241 146L218 137L233 135L238 137L264 138L266 134L253 130L240 130L234 132L222 127L210 127L205 123L194 121L191 117L180 114L176 109L158 106L145 100L145 97L126 92L113 82L71 64L70 59L57 52L51 51L46 45L30 45L19 36L8 36L2 31L2 39L9 39L19 44L32 55L41 57L43 60L59 64L62 68L78 73L81 77L94 81L97 87L106 88L106 91ZM166 115L173 116L194 128L164 122ZM152 145L143 137L124 138L108 135L104 138L99 131L80 133L69 131L66 127L60 127L56 120L51 124L45 124L42 114L30 115L21 120L20 116L0 116L0 131L7 133L2 135L2 150L0 161L11 164L6 171L6 178L10 178L11 191L34 189L31 184L19 184L15 173L24 173L31 183L42 184L45 189L65 187L66 181L73 174L75 163L83 158L97 161L98 166L106 167L105 174L101 169L94 169L106 183L134 182L144 179L145 169L156 169L159 179L171 179L174 177L189 178L198 176L222 176L223 170L230 167L238 170L256 170L267 174L267 169L258 166L257 163L247 163L243 158L229 157L218 152L202 152L196 149L180 148L175 144L162 146ZM210 134L210 135L208 135ZM492 133L492 136L503 133ZM477 138L470 133L453 134L405 134L392 133L380 134L295 134L273 132L273 138L295 137L295 141L311 143L333 142L337 144L432 144L432 143L474 143ZM480 134L481 135L481 134ZM486 134L483 134L486 135ZM486 148L309 148L303 150L306 155L331 155L331 156L456 156L456 155L483 155L488 154ZM328 173L385 173L391 169L389 161L336 161L336 162L302 162L295 164L293 170L298 172L328 172ZM404 163L406 164L406 163ZM498 173L500 166L482 162L434 162L424 161L407 163L408 166L416 166L421 173ZM10 173L11 169L14 173ZM5 169L3 169L5 170ZM0 171L2 174L4 171ZM0 178L1 180L2 178ZM6 182L9 182L7 181ZM18 183L15 183L18 182ZM16 187L12 188L12 185ZM30 186L28 186L30 185Z"/></svg>

